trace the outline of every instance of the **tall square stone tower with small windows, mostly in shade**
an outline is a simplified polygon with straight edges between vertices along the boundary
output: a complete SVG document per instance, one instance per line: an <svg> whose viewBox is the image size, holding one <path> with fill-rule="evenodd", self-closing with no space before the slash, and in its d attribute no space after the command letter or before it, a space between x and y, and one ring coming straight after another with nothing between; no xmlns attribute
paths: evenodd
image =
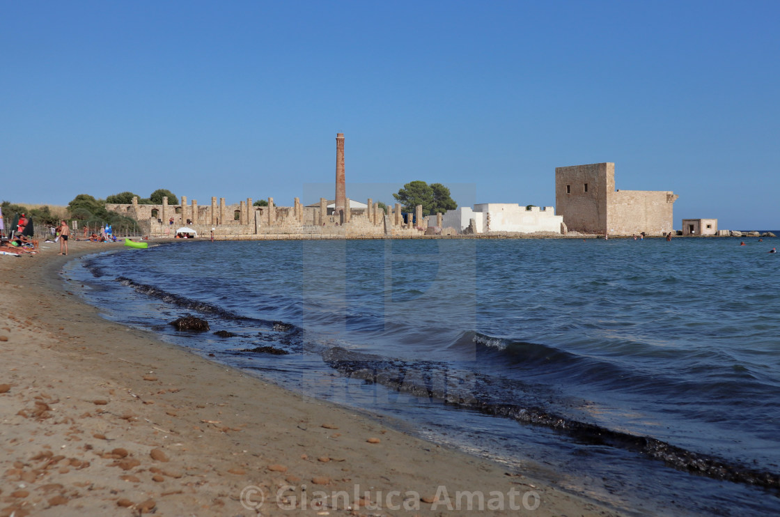
<svg viewBox="0 0 780 517"><path fill-rule="evenodd" d="M607 194L614 191L614 163L555 168L555 210L569 230L604 234Z"/></svg>

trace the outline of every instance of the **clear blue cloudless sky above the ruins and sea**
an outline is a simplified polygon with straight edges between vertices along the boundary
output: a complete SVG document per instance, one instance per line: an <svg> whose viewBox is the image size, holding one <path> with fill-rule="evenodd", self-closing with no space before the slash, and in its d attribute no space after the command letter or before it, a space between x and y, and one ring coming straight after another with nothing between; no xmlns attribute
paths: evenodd
<svg viewBox="0 0 780 517"><path fill-rule="evenodd" d="M0 1L0 198L555 204L555 167L780 228L780 2ZM332 190L332 189L331 189ZM371 188L362 189L371 195ZM469 191L469 188L459 189ZM332 197L332 192L322 195ZM311 202L315 199L303 198Z"/></svg>

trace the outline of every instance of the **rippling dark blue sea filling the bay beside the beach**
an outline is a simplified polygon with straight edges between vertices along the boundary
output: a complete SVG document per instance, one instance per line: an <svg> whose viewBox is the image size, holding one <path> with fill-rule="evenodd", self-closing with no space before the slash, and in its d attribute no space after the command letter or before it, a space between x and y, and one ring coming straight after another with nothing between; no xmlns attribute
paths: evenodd
<svg viewBox="0 0 780 517"><path fill-rule="evenodd" d="M185 242L64 274L108 319L615 508L776 515L776 244Z"/></svg>

